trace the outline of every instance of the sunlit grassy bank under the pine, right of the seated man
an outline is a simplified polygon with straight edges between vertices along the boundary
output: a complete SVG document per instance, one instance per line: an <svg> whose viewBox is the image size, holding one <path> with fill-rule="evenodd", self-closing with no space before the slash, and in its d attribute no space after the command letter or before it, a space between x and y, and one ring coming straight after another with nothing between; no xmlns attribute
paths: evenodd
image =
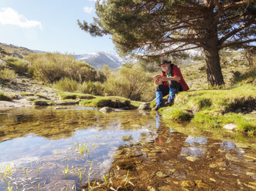
<svg viewBox="0 0 256 191"><path fill-rule="evenodd" d="M184 122L189 120L187 111L191 111L194 114L191 122L196 126L215 129L234 123L238 132L253 134L256 131L255 117L246 113L255 108L255 101L254 85L244 84L231 89L180 92L175 104L170 109L160 109L160 112L166 121Z"/></svg>

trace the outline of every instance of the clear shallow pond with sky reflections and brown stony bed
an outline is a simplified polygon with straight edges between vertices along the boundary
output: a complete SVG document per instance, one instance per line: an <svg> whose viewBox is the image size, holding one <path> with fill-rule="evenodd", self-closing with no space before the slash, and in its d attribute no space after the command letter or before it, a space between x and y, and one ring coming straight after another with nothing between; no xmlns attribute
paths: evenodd
<svg viewBox="0 0 256 191"><path fill-rule="evenodd" d="M255 161L254 149L176 132L149 113L0 111L0 190L88 190L94 180L101 190L254 190Z"/></svg>

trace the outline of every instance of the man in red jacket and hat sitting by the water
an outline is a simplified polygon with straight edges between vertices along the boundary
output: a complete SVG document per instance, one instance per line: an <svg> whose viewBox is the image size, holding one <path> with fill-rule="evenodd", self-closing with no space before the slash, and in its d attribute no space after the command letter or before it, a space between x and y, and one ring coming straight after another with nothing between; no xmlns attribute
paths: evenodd
<svg viewBox="0 0 256 191"><path fill-rule="evenodd" d="M154 108L157 111L161 106L164 106L162 97L169 94L167 106L171 106L174 102L175 94L177 92L189 90L189 86L183 79L177 65L173 65L171 61L163 61L159 65L162 69L161 77L155 80L155 103Z"/></svg>

